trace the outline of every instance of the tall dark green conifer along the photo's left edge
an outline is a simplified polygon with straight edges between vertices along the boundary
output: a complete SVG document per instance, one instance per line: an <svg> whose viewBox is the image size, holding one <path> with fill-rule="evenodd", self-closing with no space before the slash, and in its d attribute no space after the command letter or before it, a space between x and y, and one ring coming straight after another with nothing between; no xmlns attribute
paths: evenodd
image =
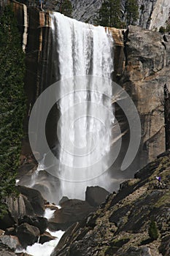
<svg viewBox="0 0 170 256"><path fill-rule="evenodd" d="M23 91L24 53L20 34L7 6L0 18L0 213L7 195L15 193L26 100Z"/></svg>

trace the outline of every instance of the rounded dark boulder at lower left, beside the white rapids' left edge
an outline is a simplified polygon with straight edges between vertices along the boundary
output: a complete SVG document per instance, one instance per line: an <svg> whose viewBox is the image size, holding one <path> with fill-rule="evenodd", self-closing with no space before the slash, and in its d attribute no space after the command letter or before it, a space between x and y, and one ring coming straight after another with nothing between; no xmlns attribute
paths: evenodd
<svg viewBox="0 0 170 256"><path fill-rule="evenodd" d="M32 245L38 241L40 231L38 227L29 225L28 223L21 224L17 229L17 236L23 248Z"/></svg>

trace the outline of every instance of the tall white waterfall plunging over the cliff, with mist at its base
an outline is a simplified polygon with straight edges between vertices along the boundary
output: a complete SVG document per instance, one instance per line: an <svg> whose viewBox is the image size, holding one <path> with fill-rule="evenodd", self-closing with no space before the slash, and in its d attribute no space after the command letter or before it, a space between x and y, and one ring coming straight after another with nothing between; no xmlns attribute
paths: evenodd
<svg viewBox="0 0 170 256"><path fill-rule="evenodd" d="M32 184L39 183L41 169L57 177L60 185L56 186L55 195L51 193L50 201L58 203L63 196L85 199L88 186L98 185L112 192L123 178L111 177L107 172L115 121L111 104L112 35L104 27L82 23L57 12L53 12L51 19L53 80L60 80L61 95L52 106L59 113L57 127L53 129L57 138L52 148L56 160L48 158L45 151ZM89 75L86 90L80 90L85 82L83 76L86 80ZM103 94L96 82L100 80ZM35 151L39 152L41 142L38 144Z"/></svg>

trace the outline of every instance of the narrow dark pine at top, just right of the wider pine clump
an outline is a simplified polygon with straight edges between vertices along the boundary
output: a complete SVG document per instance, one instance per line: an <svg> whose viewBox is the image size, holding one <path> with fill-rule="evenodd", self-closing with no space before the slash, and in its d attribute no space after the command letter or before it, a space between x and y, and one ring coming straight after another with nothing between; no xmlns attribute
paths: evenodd
<svg viewBox="0 0 170 256"><path fill-rule="evenodd" d="M136 20L139 18L138 4L136 0L127 0L125 3L125 13L127 25L135 25Z"/></svg>

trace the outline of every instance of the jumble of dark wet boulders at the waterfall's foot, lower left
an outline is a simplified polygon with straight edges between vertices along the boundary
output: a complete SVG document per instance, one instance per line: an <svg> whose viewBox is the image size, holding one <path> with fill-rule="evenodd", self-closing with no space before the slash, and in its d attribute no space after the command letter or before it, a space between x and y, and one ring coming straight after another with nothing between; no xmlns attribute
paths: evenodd
<svg viewBox="0 0 170 256"><path fill-rule="evenodd" d="M59 207L48 203L36 189L24 186L17 186L17 189L18 197L7 197L8 210L0 219L1 256L26 256L22 251L27 246L55 240L50 231L66 230L81 221L96 211L109 194L103 188L88 187L85 201L63 197Z"/></svg>

